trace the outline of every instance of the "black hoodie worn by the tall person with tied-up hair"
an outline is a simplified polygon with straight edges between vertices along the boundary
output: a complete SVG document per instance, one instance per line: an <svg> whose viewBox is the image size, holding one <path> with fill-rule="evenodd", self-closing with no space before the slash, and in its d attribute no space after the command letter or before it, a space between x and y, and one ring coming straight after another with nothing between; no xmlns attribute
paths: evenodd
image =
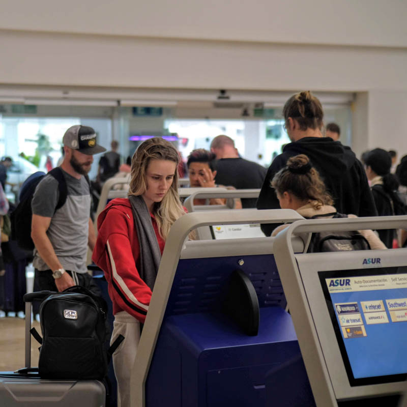
<svg viewBox="0 0 407 407"><path fill-rule="evenodd" d="M362 163L350 147L330 137L304 137L287 144L282 154L271 163L260 195L257 209L279 209L280 205L271 187L274 175L285 166L288 158L305 154L318 170L339 213L357 216L377 216L374 200ZM261 229L271 235L276 225L264 224Z"/></svg>

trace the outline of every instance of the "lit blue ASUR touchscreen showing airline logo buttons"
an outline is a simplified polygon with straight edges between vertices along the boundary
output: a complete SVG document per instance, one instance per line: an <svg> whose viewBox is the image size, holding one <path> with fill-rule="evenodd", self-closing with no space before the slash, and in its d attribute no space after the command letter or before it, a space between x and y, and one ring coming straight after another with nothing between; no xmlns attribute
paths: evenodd
<svg viewBox="0 0 407 407"><path fill-rule="evenodd" d="M404 381L407 266L318 277L351 386Z"/></svg>

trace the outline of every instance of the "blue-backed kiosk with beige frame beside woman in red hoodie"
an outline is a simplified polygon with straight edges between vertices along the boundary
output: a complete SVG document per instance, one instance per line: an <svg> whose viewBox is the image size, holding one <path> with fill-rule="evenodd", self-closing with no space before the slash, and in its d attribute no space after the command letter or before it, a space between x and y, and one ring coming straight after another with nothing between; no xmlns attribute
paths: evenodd
<svg viewBox="0 0 407 407"><path fill-rule="evenodd" d="M216 211L173 224L131 374L132 405L266 405L268 372L300 355L274 238L185 239L210 224L298 219L292 210ZM298 237L292 245L304 248Z"/></svg>

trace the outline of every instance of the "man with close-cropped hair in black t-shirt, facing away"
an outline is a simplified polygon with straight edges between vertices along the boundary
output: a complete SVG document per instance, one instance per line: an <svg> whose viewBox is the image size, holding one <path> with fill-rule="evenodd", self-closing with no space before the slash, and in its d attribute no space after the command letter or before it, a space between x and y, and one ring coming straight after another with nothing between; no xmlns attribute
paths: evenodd
<svg viewBox="0 0 407 407"><path fill-rule="evenodd" d="M216 184L231 185L236 189L261 188L267 169L239 157L235 142L228 136L216 136L211 142L216 159ZM255 208L256 199L242 199L243 208Z"/></svg>

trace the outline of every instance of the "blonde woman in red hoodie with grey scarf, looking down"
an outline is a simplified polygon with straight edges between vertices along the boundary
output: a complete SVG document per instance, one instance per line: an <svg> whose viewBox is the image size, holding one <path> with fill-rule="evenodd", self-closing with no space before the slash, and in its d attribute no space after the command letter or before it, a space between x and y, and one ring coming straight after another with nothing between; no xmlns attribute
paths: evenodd
<svg viewBox="0 0 407 407"><path fill-rule="evenodd" d="M130 405L130 372L171 225L185 212L177 190L179 156L161 137L140 144L131 161L128 198L113 199L98 217L92 259L105 273L113 303L111 341L118 405Z"/></svg>

